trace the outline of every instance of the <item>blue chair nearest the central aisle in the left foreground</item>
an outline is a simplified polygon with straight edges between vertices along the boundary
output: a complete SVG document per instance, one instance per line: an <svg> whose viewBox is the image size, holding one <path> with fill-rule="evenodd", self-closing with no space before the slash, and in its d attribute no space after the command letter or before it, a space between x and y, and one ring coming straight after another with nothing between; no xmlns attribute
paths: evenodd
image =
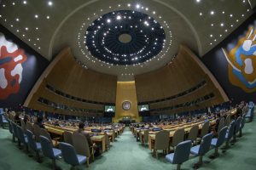
<svg viewBox="0 0 256 170"><path fill-rule="evenodd" d="M74 166L78 166L83 164L86 161L86 156L80 156L76 154L76 151L73 148L73 145L67 143L60 143L60 149L63 156L64 161L68 164Z"/></svg>

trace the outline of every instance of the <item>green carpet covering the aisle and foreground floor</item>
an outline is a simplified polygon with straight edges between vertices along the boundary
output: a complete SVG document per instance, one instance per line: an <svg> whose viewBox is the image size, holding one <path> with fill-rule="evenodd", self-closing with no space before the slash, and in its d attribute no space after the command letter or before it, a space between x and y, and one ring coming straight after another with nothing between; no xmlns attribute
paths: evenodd
<svg viewBox="0 0 256 170"><path fill-rule="evenodd" d="M243 129L243 136L238 138L235 145L231 145L230 150L222 153L214 160L208 158L214 150L210 150L204 156L205 163L201 169L256 169L256 122L246 123ZM50 169L51 161L43 157L43 163L35 161L34 157L29 157L23 150L19 150L17 144L12 143L9 130L0 129L0 170L34 170ZM198 161L198 157L191 158L183 163L183 169L193 169L193 164ZM70 169L64 161L57 161L61 169ZM129 128L117 138L110 150L98 156L96 161L90 163L90 167L85 165L79 169L93 170L166 170L176 169L176 165L168 163L165 156L160 154L156 159L151 155L148 147L136 142Z"/></svg>

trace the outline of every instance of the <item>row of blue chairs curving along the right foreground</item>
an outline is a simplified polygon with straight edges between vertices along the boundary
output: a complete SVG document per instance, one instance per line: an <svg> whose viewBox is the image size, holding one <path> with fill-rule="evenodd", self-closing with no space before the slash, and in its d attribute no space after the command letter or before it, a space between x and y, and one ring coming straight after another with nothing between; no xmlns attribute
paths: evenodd
<svg viewBox="0 0 256 170"><path fill-rule="evenodd" d="M195 146L192 145L191 140L183 141L177 144L174 153L166 155L166 160L172 164L177 164L177 169L180 169L184 161L188 161L190 155L199 156L199 161L195 164L195 167L200 167L203 163L203 156L207 154L212 148L215 149L212 158L218 156L218 148L224 144L224 150L230 147L230 141L233 138L233 142L236 142L236 135L241 137L241 129L244 127L245 116L238 117L236 121L232 121L230 126L222 127L218 133L217 138L213 138L212 133L207 133L201 139L201 144Z"/></svg>

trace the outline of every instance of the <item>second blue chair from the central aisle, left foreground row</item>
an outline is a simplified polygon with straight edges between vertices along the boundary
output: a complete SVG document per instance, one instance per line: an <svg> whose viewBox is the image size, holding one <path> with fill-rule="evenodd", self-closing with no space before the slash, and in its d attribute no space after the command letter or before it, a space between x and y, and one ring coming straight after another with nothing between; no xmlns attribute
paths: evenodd
<svg viewBox="0 0 256 170"><path fill-rule="evenodd" d="M40 138L40 144L42 146L42 151L43 151L44 156L49 157L49 159L52 160L52 165L53 165L53 168L55 169L55 167L56 167L55 160L59 156L61 156L61 150L53 148L52 142L48 138L46 138L42 135L40 135L39 138Z"/></svg>

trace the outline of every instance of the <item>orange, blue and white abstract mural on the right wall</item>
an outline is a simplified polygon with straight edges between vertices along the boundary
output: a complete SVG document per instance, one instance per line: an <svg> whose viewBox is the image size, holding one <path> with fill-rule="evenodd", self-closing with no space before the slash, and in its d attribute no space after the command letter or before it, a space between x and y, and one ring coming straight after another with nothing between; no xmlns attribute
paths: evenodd
<svg viewBox="0 0 256 170"><path fill-rule="evenodd" d="M230 82L247 93L256 91L256 30L250 27L245 37L241 37L235 48L225 58L229 63Z"/></svg>

